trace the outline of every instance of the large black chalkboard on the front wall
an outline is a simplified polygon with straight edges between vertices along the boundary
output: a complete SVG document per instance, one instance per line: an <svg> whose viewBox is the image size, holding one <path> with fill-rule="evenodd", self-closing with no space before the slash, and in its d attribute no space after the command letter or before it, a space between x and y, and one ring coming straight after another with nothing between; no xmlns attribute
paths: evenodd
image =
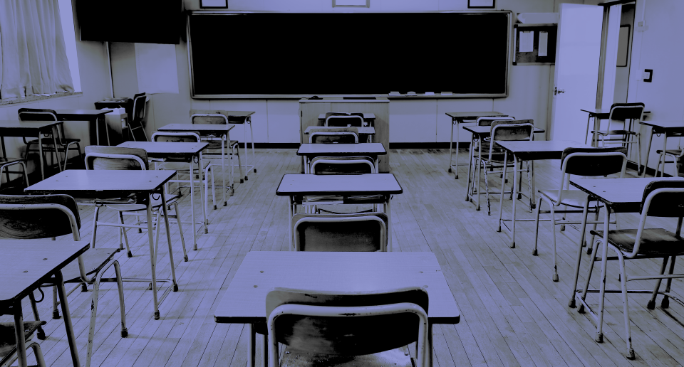
<svg viewBox="0 0 684 367"><path fill-rule="evenodd" d="M189 15L192 96L505 97L509 11Z"/></svg>

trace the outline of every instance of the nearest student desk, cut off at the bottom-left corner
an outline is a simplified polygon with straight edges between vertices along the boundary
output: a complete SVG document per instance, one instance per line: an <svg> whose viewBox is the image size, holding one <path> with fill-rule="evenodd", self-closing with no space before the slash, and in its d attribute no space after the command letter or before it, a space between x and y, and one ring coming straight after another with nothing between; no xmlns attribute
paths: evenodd
<svg viewBox="0 0 684 367"><path fill-rule="evenodd" d="M73 366L81 366L78 360L76 336L71 324L68 299L62 278L62 268L76 260L90 248L87 241L51 240L2 240L0 241L0 309L14 314L14 331L19 366L26 366L26 341L24 339L24 315L21 299L38 289L41 284L55 282L59 304L64 316L66 339L71 350ZM52 278L54 277L54 278ZM52 279L51 279L52 278ZM11 309L10 309L11 307Z"/></svg>

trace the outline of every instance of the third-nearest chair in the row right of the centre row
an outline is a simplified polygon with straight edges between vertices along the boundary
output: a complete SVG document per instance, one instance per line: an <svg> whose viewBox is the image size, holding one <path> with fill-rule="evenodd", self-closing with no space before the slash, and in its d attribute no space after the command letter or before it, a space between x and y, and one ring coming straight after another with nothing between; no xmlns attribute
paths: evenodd
<svg viewBox="0 0 684 367"><path fill-rule="evenodd" d="M489 203L489 181L487 180L487 176L489 174L501 174L502 175L502 185L505 184L506 178L503 177L503 174L505 174L507 167L504 166L504 158L507 157L508 155L508 164L509 166L516 167L517 164L513 162L512 160L512 155L507 154L503 149L497 147L496 144L492 144L497 141L517 141L517 140L532 140L532 130L534 129L534 126L532 125L532 120L531 119L522 119L522 120L497 120L492 122L491 124L492 130L491 133L489 134L489 140L485 139L484 142L480 142L478 144L478 153L477 153L477 158L475 158L475 152L473 153L473 159L478 161L477 164L477 210L480 210L480 192L482 191L481 188L481 178L482 178L482 169L484 168L484 194L487 198L487 216L490 216L492 214L491 211L491 204ZM482 156L482 148L487 149L489 151L489 154L487 154L486 158ZM487 171L489 169L489 171ZM501 169L494 171L494 169ZM514 168L517 169L517 168ZM518 171L527 171L527 181L528 181L528 186L530 188L530 191L532 191L532 185L530 184L532 177L530 176L530 169L529 169L529 163L527 165L527 169L519 169ZM473 172L475 174L475 172ZM475 179L472 179L472 186L470 188L471 196L472 192L475 191ZM491 193L496 193L492 191ZM511 196L513 195L513 192L511 191ZM470 197L470 196L469 196ZM529 195L530 198L532 198L532 193ZM532 207L532 204L530 205Z"/></svg>

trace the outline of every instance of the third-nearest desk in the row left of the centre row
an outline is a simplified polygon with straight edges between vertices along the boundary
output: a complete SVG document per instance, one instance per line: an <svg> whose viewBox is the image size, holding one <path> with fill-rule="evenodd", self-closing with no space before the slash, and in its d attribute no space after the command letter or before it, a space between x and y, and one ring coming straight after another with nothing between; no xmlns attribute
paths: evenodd
<svg viewBox="0 0 684 367"><path fill-rule="evenodd" d="M147 151L147 158L155 159L174 159L175 161L186 161L190 168L190 216L192 220L192 249L197 250L197 229L195 225L195 173L193 173L193 159L197 158L197 172L201 177L202 172L202 150L207 147L209 143L181 143L181 142L124 142L117 147L121 148L138 148ZM199 202L204 200L204 190L200 181L199 185ZM202 218L200 222L204 226L204 233L209 233L207 229L207 208L202 205ZM200 227L201 228L201 227Z"/></svg>

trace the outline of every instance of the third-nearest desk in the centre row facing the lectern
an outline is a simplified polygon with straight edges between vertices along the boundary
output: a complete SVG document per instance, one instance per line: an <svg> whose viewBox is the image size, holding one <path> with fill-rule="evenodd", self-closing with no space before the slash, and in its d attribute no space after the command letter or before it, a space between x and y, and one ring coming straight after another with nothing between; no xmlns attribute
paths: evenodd
<svg viewBox="0 0 684 367"><path fill-rule="evenodd" d="M378 156L387 154L385 147L380 143L358 144L301 144L297 151L298 156L304 156L304 173L311 173L311 159L317 156L370 156L375 163L375 172L378 172Z"/></svg>

